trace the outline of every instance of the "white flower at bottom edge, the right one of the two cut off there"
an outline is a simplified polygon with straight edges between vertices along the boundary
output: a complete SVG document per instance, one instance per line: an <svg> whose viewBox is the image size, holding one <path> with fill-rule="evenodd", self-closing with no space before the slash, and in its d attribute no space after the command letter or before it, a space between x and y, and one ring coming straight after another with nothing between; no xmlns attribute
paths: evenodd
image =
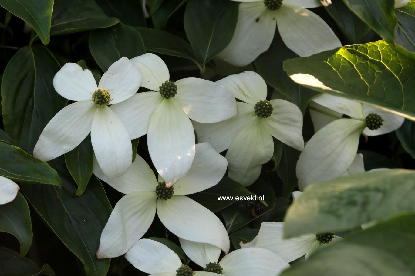
<svg viewBox="0 0 415 276"><path fill-rule="evenodd" d="M241 248L225 255L219 262L220 248L199 242L180 239L186 255L203 267L195 276L270 276L279 275L290 267L280 256L263 248Z"/></svg>

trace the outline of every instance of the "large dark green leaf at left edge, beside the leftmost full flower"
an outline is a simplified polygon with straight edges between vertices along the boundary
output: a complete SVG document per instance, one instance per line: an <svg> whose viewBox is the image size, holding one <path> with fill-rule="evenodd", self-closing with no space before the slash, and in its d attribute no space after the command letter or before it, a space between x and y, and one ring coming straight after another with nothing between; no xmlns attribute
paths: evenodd
<svg viewBox="0 0 415 276"><path fill-rule="evenodd" d="M1 93L5 132L13 144L32 152L43 128L64 106L52 80L61 67L43 46L20 49L4 70ZM47 107L47 108L46 108Z"/></svg>

